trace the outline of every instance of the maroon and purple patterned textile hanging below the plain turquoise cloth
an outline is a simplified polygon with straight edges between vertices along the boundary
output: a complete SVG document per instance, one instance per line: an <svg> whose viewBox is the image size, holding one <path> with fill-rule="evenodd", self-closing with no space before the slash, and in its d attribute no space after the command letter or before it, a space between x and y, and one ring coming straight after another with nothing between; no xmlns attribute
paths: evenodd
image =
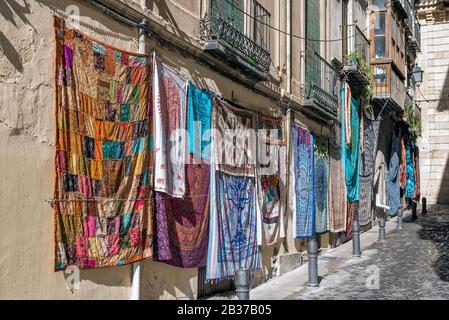
<svg viewBox="0 0 449 320"><path fill-rule="evenodd" d="M155 258L197 268L206 265L209 238L209 165L186 165L186 196L156 192Z"/></svg>

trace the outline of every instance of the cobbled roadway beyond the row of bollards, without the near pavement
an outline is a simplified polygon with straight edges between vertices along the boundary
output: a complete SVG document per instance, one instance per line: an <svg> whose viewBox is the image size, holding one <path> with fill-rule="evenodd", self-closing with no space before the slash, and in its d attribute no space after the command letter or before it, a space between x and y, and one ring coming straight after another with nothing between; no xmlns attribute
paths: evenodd
<svg viewBox="0 0 449 320"><path fill-rule="evenodd" d="M387 241L365 248L325 275L319 288L301 288L286 299L449 299L449 208L433 207L426 217Z"/></svg>

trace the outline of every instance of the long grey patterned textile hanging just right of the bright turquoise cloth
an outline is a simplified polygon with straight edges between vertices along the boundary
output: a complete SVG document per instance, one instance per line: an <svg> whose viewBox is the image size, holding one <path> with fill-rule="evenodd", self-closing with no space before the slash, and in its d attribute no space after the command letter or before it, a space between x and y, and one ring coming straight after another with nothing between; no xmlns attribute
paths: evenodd
<svg viewBox="0 0 449 320"><path fill-rule="evenodd" d="M380 121L363 116L363 152L360 151L360 202L359 224L365 226L372 221L373 177L379 139ZM362 149L362 144L360 144Z"/></svg>

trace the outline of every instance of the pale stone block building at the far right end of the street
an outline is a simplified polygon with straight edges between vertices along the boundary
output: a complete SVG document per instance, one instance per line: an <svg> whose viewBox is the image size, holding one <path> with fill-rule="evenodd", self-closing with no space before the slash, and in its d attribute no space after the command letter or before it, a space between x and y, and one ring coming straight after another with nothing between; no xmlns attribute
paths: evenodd
<svg viewBox="0 0 449 320"><path fill-rule="evenodd" d="M417 92L422 115L421 189L431 204L449 203L449 3L419 1L425 70Z"/></svg>

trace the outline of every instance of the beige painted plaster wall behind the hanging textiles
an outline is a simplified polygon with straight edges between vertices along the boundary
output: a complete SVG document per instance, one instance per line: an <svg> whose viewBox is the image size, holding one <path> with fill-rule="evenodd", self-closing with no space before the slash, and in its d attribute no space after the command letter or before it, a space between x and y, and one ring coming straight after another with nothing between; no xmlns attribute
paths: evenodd
<svg viewBox="0 0 449 320"><path fill-rule="evenodd" d="M278 2L279 1L279 2ZM303 34L303 9L293 0L293 33ZM0 299L128 299L132 267L122 266L81 271L80 289L65 286L64 273L53 272L53 212L44 202L53 194L54 179L54 87L52 0L0 2ZM171 21L173 32L186 41L198 37L198 17L204 1L148 0L153 13ZM282 0L263 1L272 12L284 12ZM82 0L57 1L57 10L68 5L80 8L83 32L129 51L137 51L137 31L105 16ZM285 21L274 24L285 28ZM334 26L334 29L338 26ZM285 36L272 34L282 70L285 64ZM279 42L274 41L278 39ZM229 100L251 110L279 115L278 101L262 97L191 58L147 42L179 73L197 86L222 93ZM299 78L301 41L292 43L292 76ZM341 49L340 49L341 52ZM276 56L273 54L273 56ZM272 74L277 75L275 70ZM285 76L285 74L284 74ZM298 82L298 81L297 81ZM285 84L281 84L285 87ZM329 135L328 129L298 116L297 122L314 132ZM285 253L304 250L303 241L291 239L291 212L288 213L287 241L263 248L263 273L257 282L273 274L273 259ZM326 240L324 240L325 242ZM142 263L141 298L193 299L197 294L197 270L165 264Z"/></svg>

